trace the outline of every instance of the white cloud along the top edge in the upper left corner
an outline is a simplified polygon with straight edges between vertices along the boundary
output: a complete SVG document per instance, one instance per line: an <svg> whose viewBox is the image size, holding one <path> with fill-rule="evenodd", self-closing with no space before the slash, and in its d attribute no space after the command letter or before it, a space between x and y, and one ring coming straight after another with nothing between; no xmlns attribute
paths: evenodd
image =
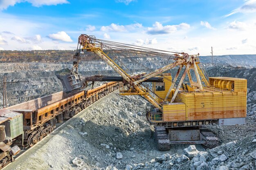
<svg viewBox="0 0 256 170"><path fill-rule="evenodd" d="M69 3L67 0L0 0L0 11L21 2L29 2L34 7Z"/></svg>

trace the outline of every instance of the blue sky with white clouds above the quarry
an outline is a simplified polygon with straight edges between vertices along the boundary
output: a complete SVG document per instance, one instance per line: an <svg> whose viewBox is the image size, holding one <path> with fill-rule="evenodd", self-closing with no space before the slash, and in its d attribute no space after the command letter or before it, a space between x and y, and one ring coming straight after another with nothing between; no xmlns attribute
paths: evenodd
<svg viewBox="0 0 256 170"><path fill-rule="evenodd" d="M168 51L256 53L256 0L0 0L0 50L74 49L80 34Z"/></svg>

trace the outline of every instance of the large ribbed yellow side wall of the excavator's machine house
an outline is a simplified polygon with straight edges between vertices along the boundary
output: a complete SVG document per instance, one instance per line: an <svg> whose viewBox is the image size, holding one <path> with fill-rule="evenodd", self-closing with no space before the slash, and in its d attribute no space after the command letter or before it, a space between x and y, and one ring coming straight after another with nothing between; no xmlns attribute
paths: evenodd
<svg viewBox="0 0 256 170"><path fill-rule="evenodd" d="M246 117L246 92L178 93L175 102L186 104L188 120Z"/></svg>

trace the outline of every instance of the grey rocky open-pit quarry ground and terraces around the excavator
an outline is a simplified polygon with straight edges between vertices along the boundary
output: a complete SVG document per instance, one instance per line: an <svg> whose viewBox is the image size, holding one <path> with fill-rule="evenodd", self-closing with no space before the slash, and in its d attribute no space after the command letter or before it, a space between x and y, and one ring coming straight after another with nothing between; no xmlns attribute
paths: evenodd
<svg viewBox="0 0 256 170"><path fill-rule="evenodd" d="M152 62L151 59L148 62ZM11 106L62 91L61 82L54 72L67 66L71 68L70 63L0 63L0 77L6 75L8 82L29 80L29 83L7 84L7 104ZM156 69L164 62L159 60L152 63L148 67ZM254 62L251 65L247 62L241 63L248 67L239 66L237 60L234 64L220 66L209 66L207 62L203 63L207 66L205 69L209 77L240 77L248 80L246 124L210 126L211 130L219 136L222 146L213 150L205 150L201 145L195 146L197 150L208 153L206 160L203 161L207 166L202 162L198 163L198 166L191 165L195 160L192 161L193 158L191 158L188 161L182 156L183 149L189 145L173 145L170 151L157 151L152 136L153 128L149 126L144 113L146 101L138 96L120 96L116 92L83 110L4 169L115 170L118 168L128 170L130 167L130 169L185 170L208 167L216 170L220 166L227 166L229 169L255 168L256 143L252 141L256 139L256 68L253 68ZM129 66L134 72L143 71L135 65ZM82 62L79 69L82 75L87 76L116 75L102 61ZM2 106L2 88L0 104ZM227 143L232 141L236 141L236 144L233 142L230 149ZM237 155L234 151L237 151ZM167 155L168 159L165 160L167 153L172 155L172 158ZM214 158L220 158L222 155L218 153L227 156L227 160L214 162L216 161L213 161ZM156 158L163 154L165 154L162 156L164 161ZM78 159L74 161L76 157ZM81 163L77 162L80 159L84 162L81 167L77 166ZM174 166L170 166L171 163Z"/></svg>

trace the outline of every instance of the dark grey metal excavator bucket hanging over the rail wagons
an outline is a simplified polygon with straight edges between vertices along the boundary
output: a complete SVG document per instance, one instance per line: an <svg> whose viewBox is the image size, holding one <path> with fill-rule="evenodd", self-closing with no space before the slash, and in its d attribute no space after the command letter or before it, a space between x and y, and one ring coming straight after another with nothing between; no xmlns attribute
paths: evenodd
<svg viewBox="0 0 256 170"><path fill-rule="evenodd" d="M70 93L73 91L82 91L85 88L80 74L73 74L70 69L65 68L60 71L56 71L55 75L61 80L63 91Z"/></svg>

